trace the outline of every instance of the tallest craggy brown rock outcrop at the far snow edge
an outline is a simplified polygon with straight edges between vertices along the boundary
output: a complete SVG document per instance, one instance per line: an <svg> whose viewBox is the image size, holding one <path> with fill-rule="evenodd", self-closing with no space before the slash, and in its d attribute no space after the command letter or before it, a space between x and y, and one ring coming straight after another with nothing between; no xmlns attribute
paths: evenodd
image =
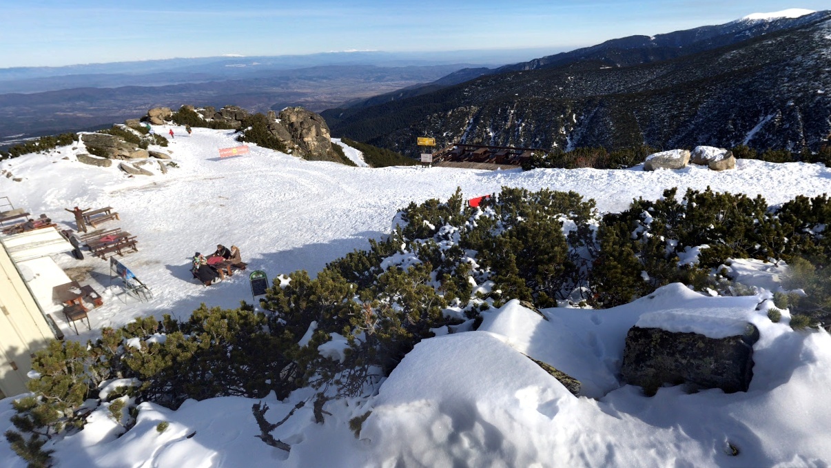
<svg viewBox="0 0 831 468"><path fill-rule="evenodd" d="M280 111L279 123L292 136L303 158L337 161L332 150L332 135L322 116L302 107L287 107Z"/></svg>

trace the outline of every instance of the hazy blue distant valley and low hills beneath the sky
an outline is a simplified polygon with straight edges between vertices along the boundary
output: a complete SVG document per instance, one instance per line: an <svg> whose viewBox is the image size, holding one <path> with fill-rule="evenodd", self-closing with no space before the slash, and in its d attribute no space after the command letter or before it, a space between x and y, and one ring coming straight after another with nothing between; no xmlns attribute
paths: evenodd
<svg viewBox="0 0 831 468"><path fill-rule="evenodd" d="M110 126L144 114L154 106L178 108L183 103L221 107L229 104L249 111L280 110L303 106L312 111L327 108L406 86L435 81L468 64L378 67L330 65L295 70L257 70L242 77L202 73L182 75L155 72L147 76L85 75L33 79L38 86L57 83L112 84L120 81L196 80L164 86L72 87L27 94L0 95L0 145L20 138L61 131ZM0 86L2 82L0 82ZM20 80L5 86L22 86ZM35 83L32 84L35 86ZM18 136L16 136L18 135Z"/></svg>

